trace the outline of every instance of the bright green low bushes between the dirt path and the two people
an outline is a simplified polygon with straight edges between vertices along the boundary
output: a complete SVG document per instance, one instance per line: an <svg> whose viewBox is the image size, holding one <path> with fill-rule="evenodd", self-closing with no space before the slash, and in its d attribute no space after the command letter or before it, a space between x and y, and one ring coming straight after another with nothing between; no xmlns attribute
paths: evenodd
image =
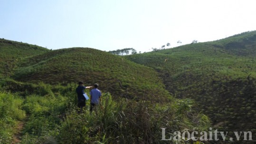
<svg viewBox="0 0 256 144"><path fill-rule="evenodd" d="M68 98L61 95L26 97L22 108L29 117L23 128L22 144L55 142L67 104Z"/></svg>

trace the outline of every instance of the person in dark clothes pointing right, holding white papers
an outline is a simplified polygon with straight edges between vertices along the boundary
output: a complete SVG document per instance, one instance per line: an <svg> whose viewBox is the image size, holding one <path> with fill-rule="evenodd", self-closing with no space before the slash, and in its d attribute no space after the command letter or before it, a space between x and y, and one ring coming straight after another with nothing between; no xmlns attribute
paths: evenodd
<svg viewBox="0 0 256 144"><path fill-rule="evenodd" d="M82 113L83 107L85 107L85 100L86 100L84 97L84 93L85 93L84 90L90 89L90 88L92 88L92 86L85 87L83 81L79 81L78 84L79 85L76 88L77 99L78 99L78 108L80 108L79 113Z"/></svg>

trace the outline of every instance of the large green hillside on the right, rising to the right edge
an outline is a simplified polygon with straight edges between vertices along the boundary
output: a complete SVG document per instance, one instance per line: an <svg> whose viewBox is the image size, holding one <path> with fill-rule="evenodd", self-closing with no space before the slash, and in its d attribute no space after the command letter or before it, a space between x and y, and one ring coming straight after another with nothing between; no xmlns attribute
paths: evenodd
<svg viewBox="0 0 256 144"><path fill-rule="evenodd" d="M159 72L172 95L195 99L216 127L256 132L255 52L253 31L126 58Z"/></svg>

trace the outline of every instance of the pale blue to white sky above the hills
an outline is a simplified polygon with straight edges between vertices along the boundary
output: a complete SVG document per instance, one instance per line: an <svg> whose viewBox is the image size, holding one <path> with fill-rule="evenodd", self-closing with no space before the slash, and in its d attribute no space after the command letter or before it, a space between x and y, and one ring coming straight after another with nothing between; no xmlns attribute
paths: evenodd
<svg viewBox="0 0 256 144"><path fill-rule="evenodd" d="M255 6L256 0L0 0L0 38L48 49L148 52L256 30Z"/></svg>

